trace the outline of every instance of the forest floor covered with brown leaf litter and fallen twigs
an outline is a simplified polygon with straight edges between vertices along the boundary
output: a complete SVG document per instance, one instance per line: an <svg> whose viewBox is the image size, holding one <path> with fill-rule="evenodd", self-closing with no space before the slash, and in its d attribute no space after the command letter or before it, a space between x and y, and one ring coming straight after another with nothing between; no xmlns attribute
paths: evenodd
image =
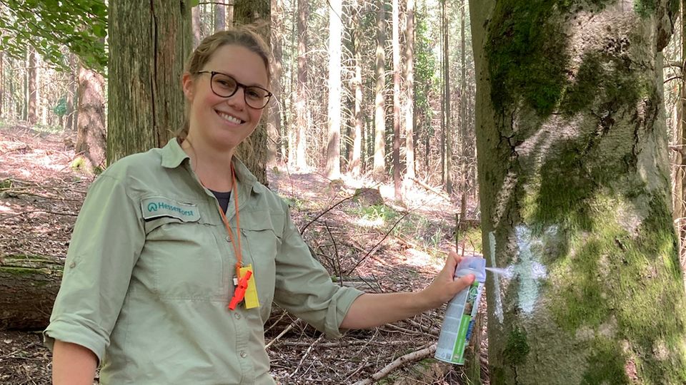
<svg viewBox="0 0 686 385"><path fill-rule="evenodd" d="M74 170L72 133L0 126L0 261L3 255L64 259L76 214L93 177ZM330 181L312 170L272 166L269 187L291 205L304 238L337 282L367 292L418 290L442 268L454 245L454 212L447 195L414 184L395 202L392 185L368 178ZM358 188L378 190L355 195ZM464 232L466 252L480 252L480 232ZM482 307L485 301L482 301ZM444 309L394 324L322 334L275 309L265 325L272 374L282 384L354 384L400 357L419 351L380 384L466 384L462 366L424 354L437 342ZM483 314L484 312L482 312ZM488 384L485 322L480 365ZM406 360L402 360L406 361ZM0 384L50 384L51 354L39 331L0 331ZM371 383L371 382L370 382Z"/></svg>

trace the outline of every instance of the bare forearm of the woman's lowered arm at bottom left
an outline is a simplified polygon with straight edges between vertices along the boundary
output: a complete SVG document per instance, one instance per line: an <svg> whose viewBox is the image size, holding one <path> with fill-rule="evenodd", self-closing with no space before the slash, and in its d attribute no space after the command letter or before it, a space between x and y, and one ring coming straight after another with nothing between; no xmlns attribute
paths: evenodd
<svg viewBox="0 0 686 385"><path fill-rule="evenodd" d="M92 385L97 365L98 359L90 349L56 340L52 354L52 383Z"/></svg>

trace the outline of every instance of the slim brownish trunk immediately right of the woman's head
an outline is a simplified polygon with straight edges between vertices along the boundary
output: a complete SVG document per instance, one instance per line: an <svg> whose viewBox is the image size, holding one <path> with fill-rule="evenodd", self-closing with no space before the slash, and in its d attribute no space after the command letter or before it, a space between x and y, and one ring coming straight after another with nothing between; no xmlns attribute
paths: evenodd
<svg viewBox="0 0 686 385"><path fill-rule="evenodd" d="M269 106L269 145L267 150L269 154L267 156L267 161L276 160L279 157L284 159L284 154L281 150L282 143L282 116L284 101L282 101L282 83L281 77L283 75L283 36L284 36L284 23L282 21L284 17L284 3L283 0L271 0L272 1L272 55L274 56L274 61L272 62L272 103Z"/></svg>

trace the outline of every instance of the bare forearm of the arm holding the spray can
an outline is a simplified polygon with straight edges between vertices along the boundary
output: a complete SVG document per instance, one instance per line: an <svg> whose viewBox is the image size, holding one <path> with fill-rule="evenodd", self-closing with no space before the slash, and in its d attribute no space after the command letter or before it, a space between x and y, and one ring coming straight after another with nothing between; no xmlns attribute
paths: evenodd
<svg viewBox="0 0 686 385"><path fill-rule="evenodd" d="M342 329L367 329L412 317L436 304L420 299L418 292L362 294L352 303Z"/></svg>

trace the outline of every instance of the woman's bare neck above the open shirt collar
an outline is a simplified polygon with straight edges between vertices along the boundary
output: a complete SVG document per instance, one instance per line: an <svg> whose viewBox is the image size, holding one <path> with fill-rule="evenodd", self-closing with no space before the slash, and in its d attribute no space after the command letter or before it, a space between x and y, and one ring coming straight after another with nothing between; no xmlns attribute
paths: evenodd
<svg viewBox="0 0 686 385"><path fill-rule="evenodd" d="M233 187L231 160L234 149L219 151L205 145L202 140L194 140L190 135L181 148L191 158L191 168L202 184L210 190L226 192Z"/></svg>

